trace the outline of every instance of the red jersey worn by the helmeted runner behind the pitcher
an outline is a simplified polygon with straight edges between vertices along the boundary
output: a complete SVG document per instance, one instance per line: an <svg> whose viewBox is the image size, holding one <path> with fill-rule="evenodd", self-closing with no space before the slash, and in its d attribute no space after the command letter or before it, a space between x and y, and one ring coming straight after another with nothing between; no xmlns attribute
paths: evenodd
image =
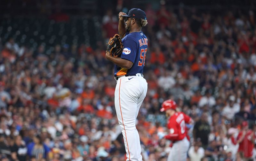
<svg viewBox="0 0 256 161"><path fill-rule="evenodd" d="M184 139L186 137L185 123L189 123L191 120L185 113L176 112L167 122L170 134L166 135L165 138L173 142Z"/></svg>

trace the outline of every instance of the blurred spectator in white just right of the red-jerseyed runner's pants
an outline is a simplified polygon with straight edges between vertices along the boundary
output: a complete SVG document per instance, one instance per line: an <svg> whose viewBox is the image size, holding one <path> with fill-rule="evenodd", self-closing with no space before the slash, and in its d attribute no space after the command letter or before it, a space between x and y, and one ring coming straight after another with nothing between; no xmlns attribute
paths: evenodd
<svg viewBox="0 0 256 161"><path fill-rule="evenodd" d="M201 147L201 142L195 142L188 150L190 161L198 161L204 157L204 148Z"/></svg>

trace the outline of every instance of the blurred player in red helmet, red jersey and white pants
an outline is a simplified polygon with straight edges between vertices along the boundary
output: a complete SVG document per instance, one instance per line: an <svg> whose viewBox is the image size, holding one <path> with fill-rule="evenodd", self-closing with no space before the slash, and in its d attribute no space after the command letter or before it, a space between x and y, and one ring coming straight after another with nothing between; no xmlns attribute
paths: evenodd
<svg viewBox="0 0 256 161"><path fill-rule="evenodd" d="M162 104L161 112L166 113L168 117L167 127L170 134L164 138L173 142L172 150L169 153L167 161L186 161L189 148L189 141L186 137L186 123L192 123L193 120L183 112L176 111L176 103L173 100L166 100Z"/></svg>

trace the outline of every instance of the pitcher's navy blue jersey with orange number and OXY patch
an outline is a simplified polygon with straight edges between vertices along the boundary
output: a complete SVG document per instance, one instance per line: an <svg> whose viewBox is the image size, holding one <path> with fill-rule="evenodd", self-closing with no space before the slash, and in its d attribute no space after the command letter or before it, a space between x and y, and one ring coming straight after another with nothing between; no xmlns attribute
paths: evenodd
<svg viewBox="0 0 256 161"><path fill-rule="evenodd" d="M143 73L145 57L148 49L148 39L142 32L126 34L122 39L124 50L121 58L133 63L130 69L121 68L115 65L115 77L120 75L133 75Z"/></svg>

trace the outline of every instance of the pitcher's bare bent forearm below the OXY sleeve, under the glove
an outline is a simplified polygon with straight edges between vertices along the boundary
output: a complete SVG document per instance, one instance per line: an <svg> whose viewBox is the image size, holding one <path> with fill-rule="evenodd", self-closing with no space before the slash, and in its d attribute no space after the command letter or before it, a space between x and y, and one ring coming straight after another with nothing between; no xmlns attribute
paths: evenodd
<svg viewBox="0 0 256 161"><path fill-rule="evenodd" d="M133 63L129 60L122 59L121 57L112 57L109 52L106 52L106 59L112 61L121 68L130 69L133 65Z"/></svg>

